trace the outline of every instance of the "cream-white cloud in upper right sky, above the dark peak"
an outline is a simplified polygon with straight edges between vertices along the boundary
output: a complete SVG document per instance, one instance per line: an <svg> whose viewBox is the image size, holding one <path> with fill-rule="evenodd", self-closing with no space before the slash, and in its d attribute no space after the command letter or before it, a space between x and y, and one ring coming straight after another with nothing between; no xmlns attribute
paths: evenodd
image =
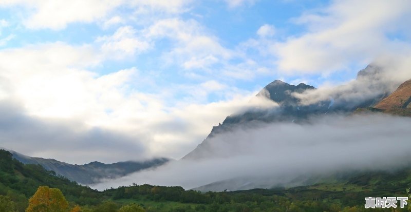
<svg viewBox="0 0 411 212"><path fill-rule="evenodd" d="M301 36L290 36L271 47L279 70L286 73L319 73L365 64L386 52L410 49L407 42L387 34L407 30L411 2L334 1L319 13L294 20L307 26Z"/></svg>

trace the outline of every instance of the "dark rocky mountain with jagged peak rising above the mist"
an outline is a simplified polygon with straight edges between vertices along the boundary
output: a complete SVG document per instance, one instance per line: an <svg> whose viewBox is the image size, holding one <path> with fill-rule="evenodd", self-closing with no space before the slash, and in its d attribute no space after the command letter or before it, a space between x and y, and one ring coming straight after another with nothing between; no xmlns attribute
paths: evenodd
<svg viewBox="0 0 411 212"><path fill-rule="evenodd" d="M357 74L357 79L352 88L341 89L330 94L326 100L303 104L295 94L313 91L316 88L311 85L300 83L290 85L280 80L275 80L259 91L255 98L267 98L278 104L278 107L270 109L253 109L241 114L229 115L222 124L214 126L209 136L199 144L193 151L182 159L200 159L210 156L209 139L221 132L230 131L234 127L250 127L255 122L306 122L312 115L325 115L332 113L351 114L357 108L371 107L385 98L389 93L389 87L380 81L383 68L368 65ZM376 90L376 94L369 95L363 99L347 100L346 93L358 93L360 89L367 87ZM334 97L334 98L333 98Z"/></svg>

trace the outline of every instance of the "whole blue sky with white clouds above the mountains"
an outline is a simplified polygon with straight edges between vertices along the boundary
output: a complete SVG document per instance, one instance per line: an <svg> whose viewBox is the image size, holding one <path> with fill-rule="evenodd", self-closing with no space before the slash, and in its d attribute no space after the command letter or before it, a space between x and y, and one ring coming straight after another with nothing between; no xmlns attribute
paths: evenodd
<svg viewBox="0 0 411 212"><path fill-rule="evenodd" d="M408 0L0 0L0 146L179 159L275 79L337 86L409 61L410 16Z"/></svg>

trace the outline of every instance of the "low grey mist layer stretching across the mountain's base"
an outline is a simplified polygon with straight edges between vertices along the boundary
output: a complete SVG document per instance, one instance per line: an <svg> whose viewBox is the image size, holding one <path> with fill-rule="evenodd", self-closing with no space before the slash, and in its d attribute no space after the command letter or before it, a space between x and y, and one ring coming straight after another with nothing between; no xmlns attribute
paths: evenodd
<svg viewBox="0 0 411 212"><path fill-rule="evenodd" d="M411 164L411 119L388 115L325 116L306 124L255 124L208 139L197 160L92 185L152 184L185 189L226 181L213 190L296 186L339 172L394 171ZM230 181L237 179L237 181Z"/></svg>

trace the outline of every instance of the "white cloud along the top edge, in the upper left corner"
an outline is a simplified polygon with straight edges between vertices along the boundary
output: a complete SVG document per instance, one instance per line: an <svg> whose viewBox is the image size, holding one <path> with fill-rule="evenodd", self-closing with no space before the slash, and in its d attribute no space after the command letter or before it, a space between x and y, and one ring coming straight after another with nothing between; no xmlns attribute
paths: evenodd
<svg viewBox="0 0 411 212"><path fill-rule="evenodd" d="M128 6L137 11L150 10L165 13L179 13L186 10L191 0L177 1L140 1L140 0L73 0L73 1L46 1L46 0L8 0L0 2L0 7L20 6L27 13L23 23L30 29L49 28L61 30L70 23L99 22L102 18L116 13L120 6ZM114 18L117 15L114 15ZM116 20L108 18L111 22ZM118 21L118 20L117 20ZM108 23L110 24L110 23Z"/></svg>

